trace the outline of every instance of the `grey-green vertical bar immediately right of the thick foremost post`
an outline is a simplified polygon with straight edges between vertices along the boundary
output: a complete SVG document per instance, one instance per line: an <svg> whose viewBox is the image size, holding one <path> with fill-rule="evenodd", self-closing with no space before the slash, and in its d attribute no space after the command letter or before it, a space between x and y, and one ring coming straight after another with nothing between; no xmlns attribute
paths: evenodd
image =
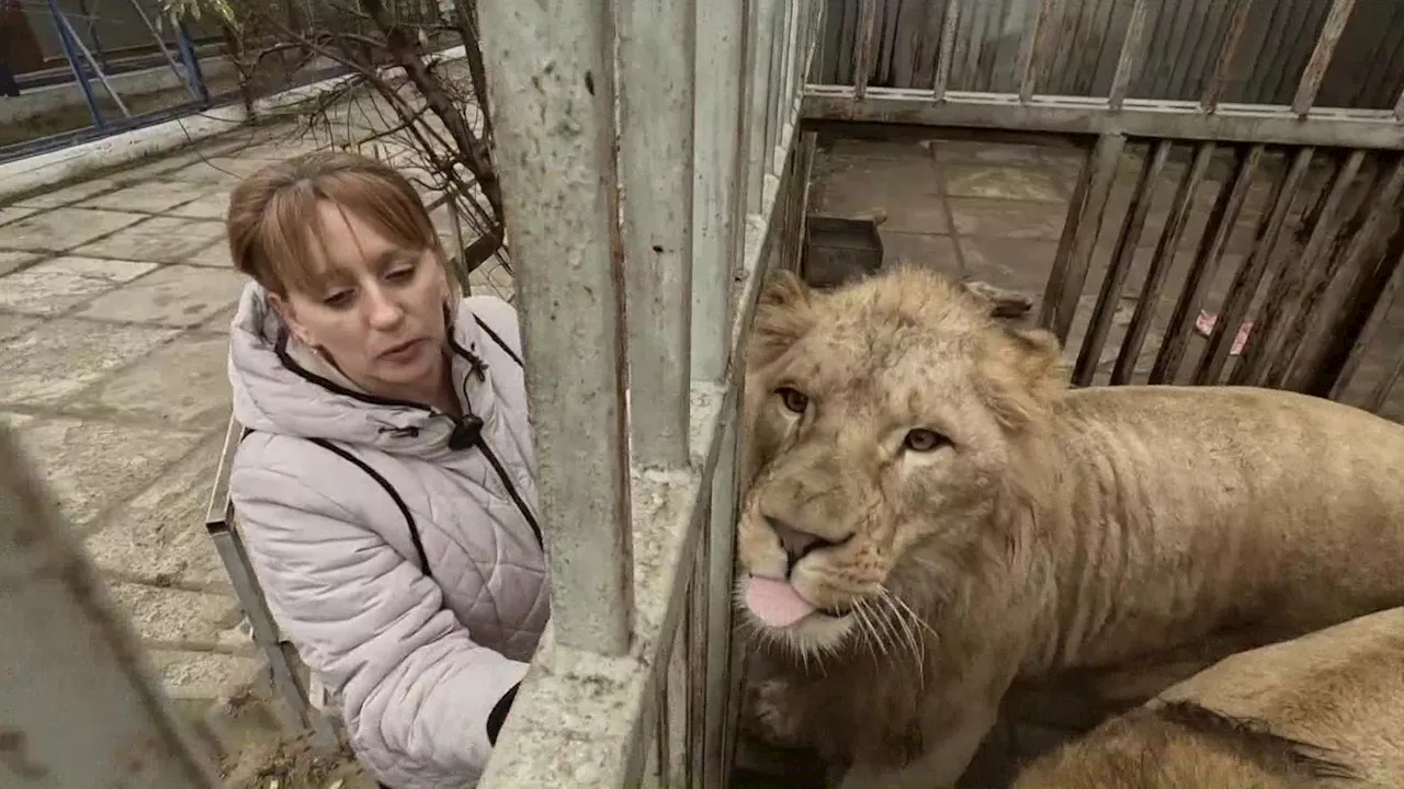
<svg viewBox="0 0 1404 789"><path fill-rule="evenodd" d="M689 462L696 14L691 1L615 7L633 456L681 468Z"/></svg>

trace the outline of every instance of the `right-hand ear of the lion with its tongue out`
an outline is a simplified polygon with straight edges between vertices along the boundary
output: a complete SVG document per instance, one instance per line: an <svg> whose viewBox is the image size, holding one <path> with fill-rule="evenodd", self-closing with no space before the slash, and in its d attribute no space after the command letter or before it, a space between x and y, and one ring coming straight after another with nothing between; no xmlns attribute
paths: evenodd
<svg viewBox="0 0 1404 789"><path fill-rule="evenodd" d="M1001 326L994 358L987 359L988 402L1000 423L1024 428L1067 387L1067 362L1052 331Z"/></svg>

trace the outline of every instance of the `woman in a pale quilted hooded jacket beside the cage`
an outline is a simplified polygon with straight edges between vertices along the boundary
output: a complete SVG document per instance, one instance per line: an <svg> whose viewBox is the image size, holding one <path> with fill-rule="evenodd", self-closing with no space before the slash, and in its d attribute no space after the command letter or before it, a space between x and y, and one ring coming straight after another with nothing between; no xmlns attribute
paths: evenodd
<svg viewBox="0 0 1404 789"><path fill-rule="evenodd" d="M378 781L476 782L549 616L517 316L459 298L371 159L271 164L227 229L230 494L270 608Z"/></svg>

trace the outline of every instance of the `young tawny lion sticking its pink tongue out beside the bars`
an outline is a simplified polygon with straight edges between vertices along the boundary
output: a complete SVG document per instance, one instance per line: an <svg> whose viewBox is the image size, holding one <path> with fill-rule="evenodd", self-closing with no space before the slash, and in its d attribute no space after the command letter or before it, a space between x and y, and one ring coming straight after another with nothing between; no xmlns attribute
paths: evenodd
<svg viewBox="0 0 1404 789"><path fill-rule="evenodd" d="M1363 410L1070 389L1052 334L914 265L774 275L744 361L748 692L844 786L953 783L1016 682L1148 678L1125 709L1404 605L1404 427Z"/></svg>

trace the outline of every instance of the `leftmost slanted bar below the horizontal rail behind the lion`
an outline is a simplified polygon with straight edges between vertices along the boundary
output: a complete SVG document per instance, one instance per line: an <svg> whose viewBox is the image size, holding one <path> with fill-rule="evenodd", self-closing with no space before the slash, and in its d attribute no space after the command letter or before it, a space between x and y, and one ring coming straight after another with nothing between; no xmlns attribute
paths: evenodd
<svg viewBox="0 0 1404 789"><path fill-rule="evenodd" d="M1126 138L1122 135L1102 135L1097 139L1097 147L1087 163L1090 168L1085 174L1087 192L1078 208L1073 237L1068 243L1059 246L1059 256L1049 272L1043 296L1046 317L1043 324L1052 329L1059 343L1067 341L1067 333L1073 327L1077 302L1082 295L1082 285L1087 284L1087 268L1092 263L1097 236L1102 230L1102 219L1106 215L1106 199L1111 197L1112 183L1116 180L1116 161L1125 147ZM1064 230L1066 233L1067 230Z"/></svg>

